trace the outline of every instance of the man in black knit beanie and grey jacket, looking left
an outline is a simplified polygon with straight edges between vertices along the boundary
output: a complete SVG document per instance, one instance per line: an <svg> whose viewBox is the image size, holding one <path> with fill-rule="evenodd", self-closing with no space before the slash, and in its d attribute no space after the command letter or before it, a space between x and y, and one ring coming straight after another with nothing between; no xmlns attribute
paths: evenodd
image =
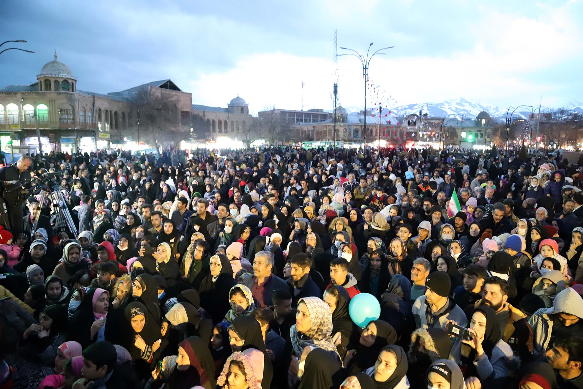
<svg viewBox="0 0 583 389"><path fill-rule="evenodd" d="M450 320L462 327L468 325L468 318L462 308L448 297L451 279L447 273L441 271L431 273L427 276L425 286L427 288L425 294L417 297L411 308L415 319L415 328L441 328L445 330L447 322ZM461 339L452 338L449 359L459 360L461 346Z"/></svg>

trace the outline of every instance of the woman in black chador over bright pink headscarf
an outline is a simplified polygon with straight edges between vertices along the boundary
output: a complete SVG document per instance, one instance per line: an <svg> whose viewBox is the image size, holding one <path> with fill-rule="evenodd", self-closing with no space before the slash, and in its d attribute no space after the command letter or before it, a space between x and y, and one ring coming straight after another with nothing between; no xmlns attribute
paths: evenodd
<svg viewBox="0 0 583 389"><path fill-rule="evenodd" d="M113 340L118 328L107 325L109 293L105 289L87 291L79 308L69 319L69 338L85 349L97 341Z"/></svg>

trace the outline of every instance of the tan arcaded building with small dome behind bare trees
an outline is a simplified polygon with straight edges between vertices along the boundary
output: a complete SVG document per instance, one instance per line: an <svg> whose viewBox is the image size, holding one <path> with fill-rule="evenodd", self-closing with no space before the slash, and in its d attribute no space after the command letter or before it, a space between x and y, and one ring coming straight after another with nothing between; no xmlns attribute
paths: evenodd
<svg viewBox="0 0 583 389"><path fill-rule="evenodd" d="M211 107L193 104L192 115L197 115L205 121L210 138L229 137L231 140L250 141L252 116L249 114L249 105L245 99L237 95L227 108ZM198 134L201 136L201 134Z"/></svg>

